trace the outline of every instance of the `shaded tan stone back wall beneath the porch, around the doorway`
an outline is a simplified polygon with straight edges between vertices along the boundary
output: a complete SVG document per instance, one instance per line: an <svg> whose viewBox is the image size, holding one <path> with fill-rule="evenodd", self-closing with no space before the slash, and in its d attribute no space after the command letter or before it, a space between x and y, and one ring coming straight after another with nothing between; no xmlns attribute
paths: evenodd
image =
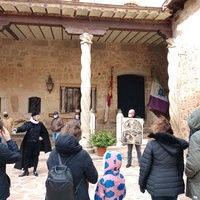
<svg viewBox="0 0 200 200"><path fill-rule="evenodd" d="M7 110L14 120L28 120L28 98L41 98L41 120L47 125L50 113L60 110L60 86L80 85L81 49L79 41L10 40L0 38L1 112ZM168 91L167 48L148 44L96 43L91 49L91 84L97 87L97 127L115 127L117 76L137 74L145 77L145 105L149 100L152 69ZM104 107L114 67L113 98L109 120L103 123ZM54 89L46 89L48 75ZM148 108L146 107L147 123ZM62 114L66 121L73 113Z"/></svg>

